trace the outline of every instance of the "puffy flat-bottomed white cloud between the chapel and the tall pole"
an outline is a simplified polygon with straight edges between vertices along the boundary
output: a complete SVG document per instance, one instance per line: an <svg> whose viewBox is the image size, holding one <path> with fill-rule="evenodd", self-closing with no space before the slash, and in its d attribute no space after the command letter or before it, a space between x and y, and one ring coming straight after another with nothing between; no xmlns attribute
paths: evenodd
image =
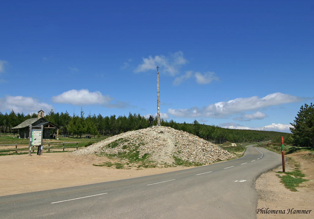
<svg viewBox="0 0 314 219"><path fill-rule="evenodd" d="M81 106L99 104L109 108L125 108L129 105L128 102L121 101L116 101L116 104L112 104L111 101L113 101L114 98L109 97L109 95L103 96L99 91L89 92L88 89L69 90L60 95L53 96L51 99L54 103Z"/></svg>

